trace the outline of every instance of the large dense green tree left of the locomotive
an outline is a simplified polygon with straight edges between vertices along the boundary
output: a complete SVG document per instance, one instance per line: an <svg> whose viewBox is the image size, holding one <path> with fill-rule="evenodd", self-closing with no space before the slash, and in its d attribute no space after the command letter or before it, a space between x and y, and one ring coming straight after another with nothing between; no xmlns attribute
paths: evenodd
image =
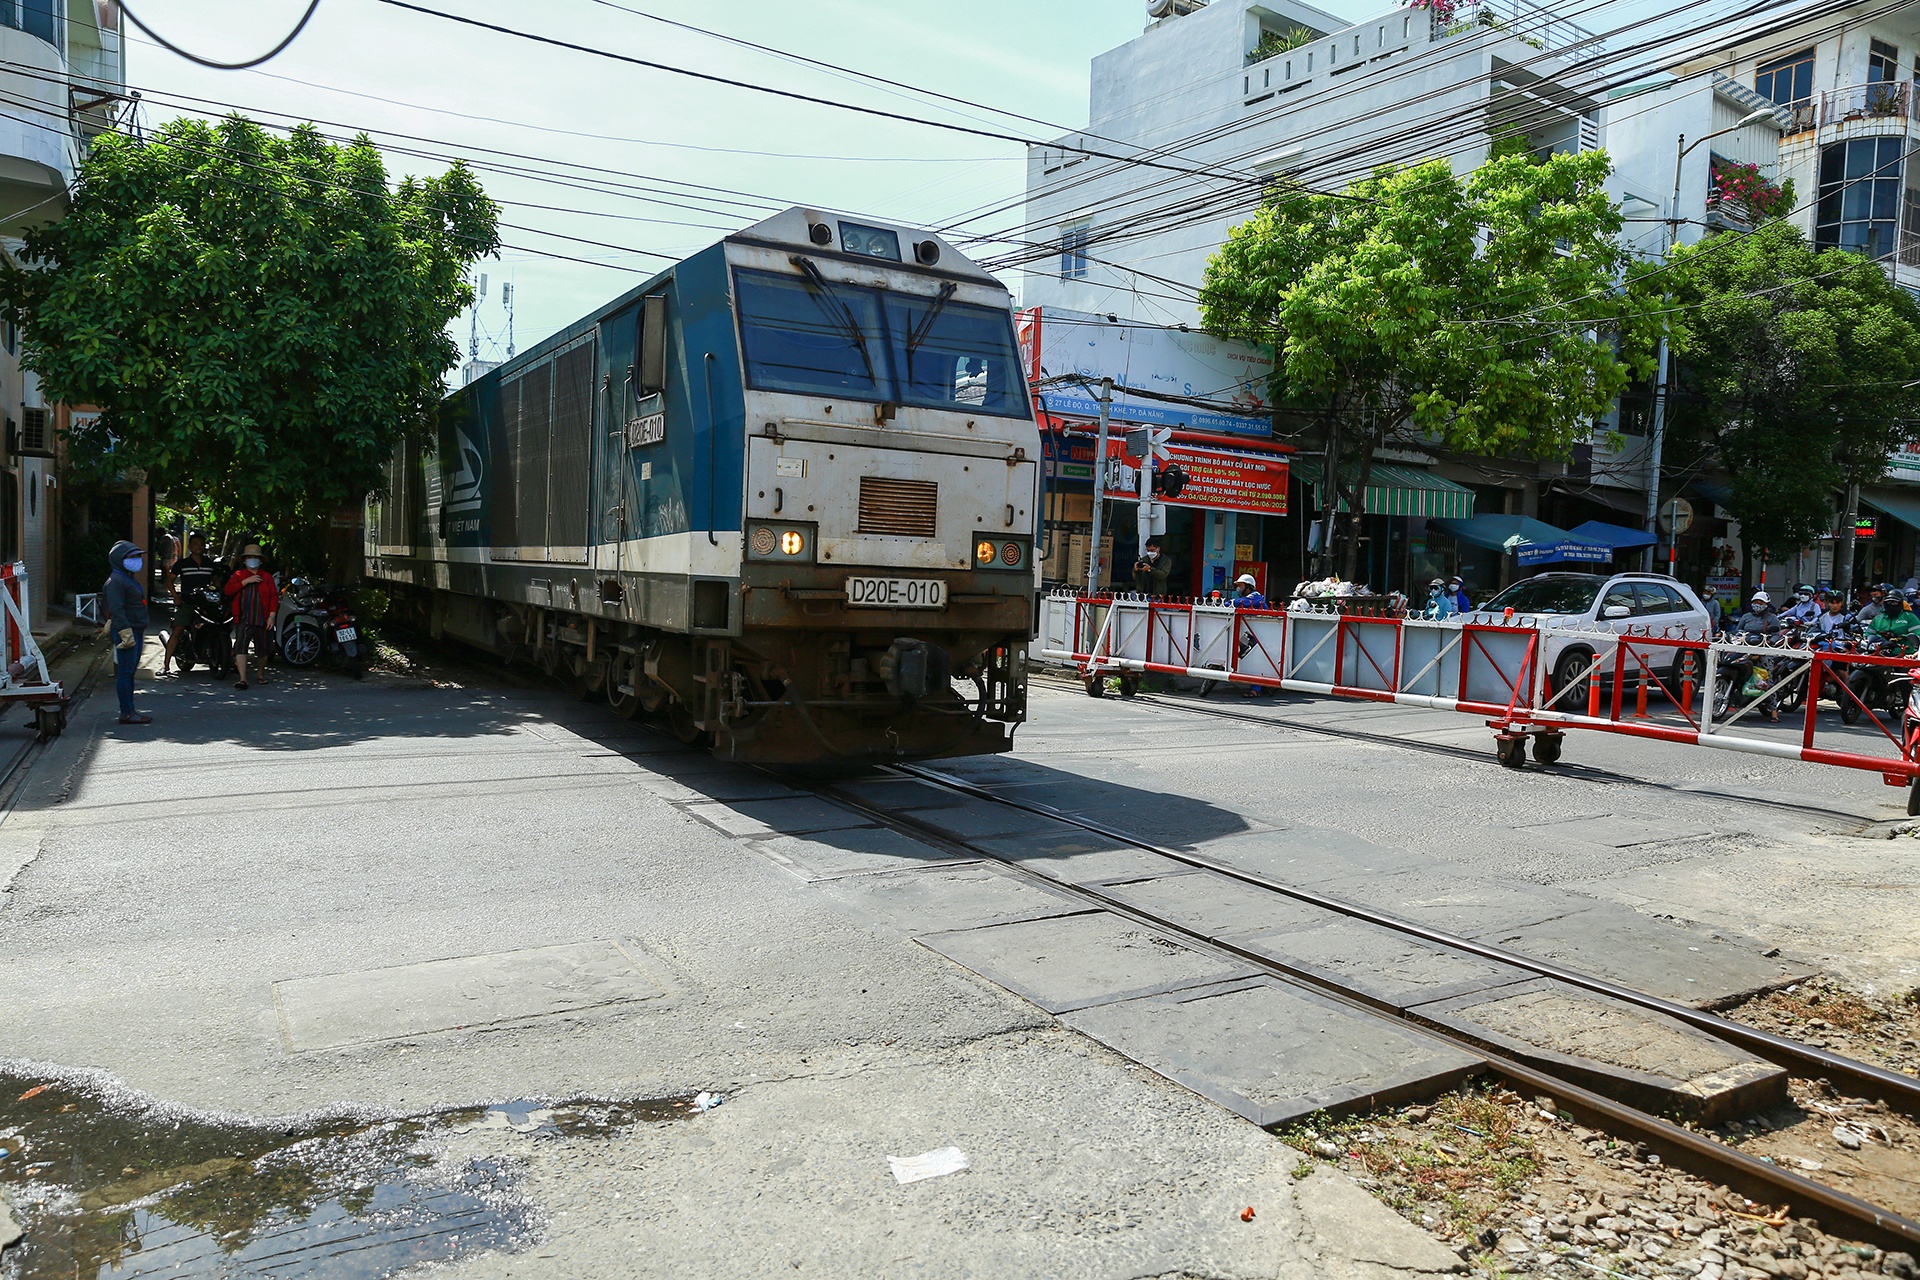
<svg viewBox="0 0 1920 1280"><path fill-rule="evenodd" d="M499 234L459 163L390 186L365 136L234 115L98 138L73 209L25 242L0 313L50 399L102 409L75 466L298 539L430 438L445 326Z"/></svg>

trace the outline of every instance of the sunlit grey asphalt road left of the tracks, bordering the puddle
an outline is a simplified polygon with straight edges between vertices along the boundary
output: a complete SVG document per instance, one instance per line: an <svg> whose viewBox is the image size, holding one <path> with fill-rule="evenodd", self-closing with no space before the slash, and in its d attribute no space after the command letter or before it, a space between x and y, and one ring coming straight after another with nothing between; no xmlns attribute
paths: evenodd
<svg viewBox="0 0 1920 1280"><path fill-rule="evenodd" d="M1344 1178L1298 1180L1273 1136L847 910L730 831L724 802L778 783L603 706L488 672L148 679L142 702L154 723L119 725L98 689L0 821L12 1073L248 1117L726 1100L589 1138L436 1138L540 1221L447 1274L1457 1267ZM945 1146L970 1169L891 1176L889 1155Z"/></svg>

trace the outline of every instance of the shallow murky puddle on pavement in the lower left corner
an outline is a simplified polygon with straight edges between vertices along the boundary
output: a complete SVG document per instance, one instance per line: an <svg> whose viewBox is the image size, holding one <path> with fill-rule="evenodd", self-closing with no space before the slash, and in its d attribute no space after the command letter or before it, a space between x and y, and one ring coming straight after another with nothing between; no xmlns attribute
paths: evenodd
<svg viewBox="0 0 1920 1280"><path fill-rule="evenodd" d="M595 1138L691 1115L689 1098L511 1102L405 1119L253 1125L96 1082L0 1071L0 1192L25 1238L0 1280L328 1276L524 1244L516 1161L444 1159L432 1138Z"/></svg>

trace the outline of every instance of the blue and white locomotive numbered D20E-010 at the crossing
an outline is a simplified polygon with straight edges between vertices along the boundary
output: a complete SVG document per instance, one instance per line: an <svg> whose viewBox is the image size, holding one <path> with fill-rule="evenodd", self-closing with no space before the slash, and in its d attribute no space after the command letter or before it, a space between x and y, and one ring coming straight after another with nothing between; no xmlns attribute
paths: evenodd
<svg viewBox="0 0 1920 1280"><path fill-rule="evenodd" d="M367 574L726 758L1006 750L1039 461L1006 288L939 236L787 209L449 395Z"/></svg>

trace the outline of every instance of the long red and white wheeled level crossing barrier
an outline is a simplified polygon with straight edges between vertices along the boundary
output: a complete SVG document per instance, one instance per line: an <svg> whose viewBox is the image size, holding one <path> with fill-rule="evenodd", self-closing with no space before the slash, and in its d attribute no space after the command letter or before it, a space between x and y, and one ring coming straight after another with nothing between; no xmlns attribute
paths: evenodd
<svg viewBox="0 0 1920 1280"><path fill-rule="evenodd" d="M1114 676L1125 695L1164 674L1484 716L1511 768L1528 745L1536 762L1553 764L1567 729L1590 729L1870 770L1908 787L1908 810L1920 810L1920 714L1876 708L1855 687L1882 668L1897 691L1891 704L1905 706L1920 658L1630 622L1073 593L1043 597L1039 639L1039 656L1073 664L1094 695Z"/></svg>

